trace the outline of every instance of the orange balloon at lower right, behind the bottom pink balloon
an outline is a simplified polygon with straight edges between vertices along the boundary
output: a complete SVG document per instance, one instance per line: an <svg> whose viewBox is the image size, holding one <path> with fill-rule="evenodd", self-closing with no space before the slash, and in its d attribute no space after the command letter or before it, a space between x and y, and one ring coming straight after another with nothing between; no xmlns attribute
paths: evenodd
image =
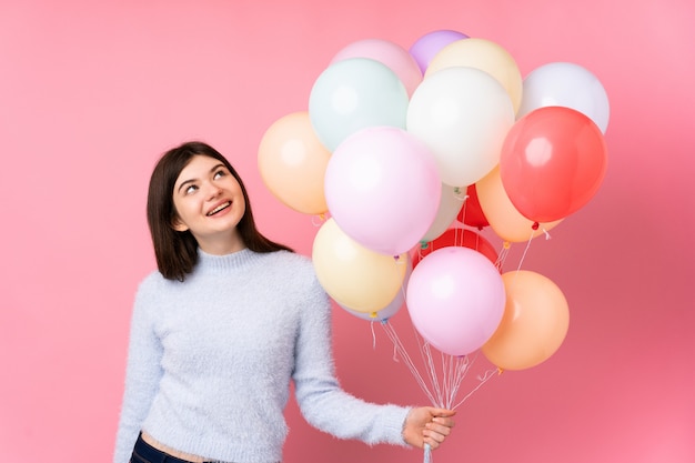
<svg viewBox="0 0 695 463"><path fill-rule="evenodd" d="M570 328L567 300L548 278L527 270L502 275L506 293L504 315L482 346L502 370L535 366L562 345Z"/></svg>

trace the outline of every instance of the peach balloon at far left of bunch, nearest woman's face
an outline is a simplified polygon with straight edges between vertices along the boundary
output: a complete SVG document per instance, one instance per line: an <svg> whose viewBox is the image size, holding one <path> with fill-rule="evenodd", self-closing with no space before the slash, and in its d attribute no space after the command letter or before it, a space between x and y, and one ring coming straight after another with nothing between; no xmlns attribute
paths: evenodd
<svg viewBox="0 0 695 463"><path fill-rule="evenodd" d="M285 205L306 214L329 210L323 182L331 152L319 141L309 112L276 120L259 145L259 171L268 189Z"/></svg>

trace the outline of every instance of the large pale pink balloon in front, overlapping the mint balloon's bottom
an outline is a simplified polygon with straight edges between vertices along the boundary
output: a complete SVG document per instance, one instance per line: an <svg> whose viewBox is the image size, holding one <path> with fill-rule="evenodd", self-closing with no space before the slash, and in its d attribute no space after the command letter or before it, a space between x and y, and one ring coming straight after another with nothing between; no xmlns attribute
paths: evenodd
<svg viewBox="0 0 695 463"><path fill-rule="evenodd" d="M372 251L400 255L427 232L442 182L434 157L403 129L362 129L338 145L325 171L329 212Z"/></svg>

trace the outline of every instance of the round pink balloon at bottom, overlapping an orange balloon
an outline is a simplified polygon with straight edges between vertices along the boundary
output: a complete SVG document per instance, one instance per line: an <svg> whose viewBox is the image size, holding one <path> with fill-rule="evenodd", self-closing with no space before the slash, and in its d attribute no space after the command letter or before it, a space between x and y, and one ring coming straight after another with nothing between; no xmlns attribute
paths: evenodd
<svg viewBox="0 0 695 463"><path fill-rule="evenodd" d="M466 355L495 332L506 295L497 268L480 252L447 246L413 269L405 295L417 332L435 349Z"/></svg>

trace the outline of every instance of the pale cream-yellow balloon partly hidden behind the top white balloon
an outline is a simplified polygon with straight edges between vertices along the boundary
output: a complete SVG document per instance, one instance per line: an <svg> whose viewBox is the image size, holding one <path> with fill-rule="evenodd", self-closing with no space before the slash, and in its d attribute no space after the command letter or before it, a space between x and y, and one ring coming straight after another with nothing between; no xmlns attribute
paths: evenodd
<svg viewBox="0 0 695 463"><path fill-rule="evenodd" d="M523 78L516 61L500 44L486 39L462 39L442 48L430 61L424 79L434 72L453 67L480 69L491 74L504 87L512 99L514 113L522 101Z"/></svg>

